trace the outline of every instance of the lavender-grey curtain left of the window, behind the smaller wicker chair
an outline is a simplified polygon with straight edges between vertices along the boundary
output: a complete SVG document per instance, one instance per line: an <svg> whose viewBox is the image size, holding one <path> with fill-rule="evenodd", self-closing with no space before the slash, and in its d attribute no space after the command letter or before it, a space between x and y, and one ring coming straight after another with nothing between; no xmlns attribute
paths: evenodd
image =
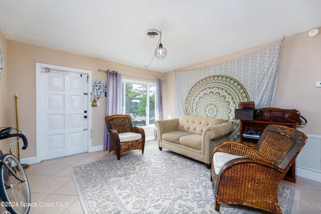
<svg viewBox="0 0 321 214"><path fill-rule="evenodd" d="M106 115L115 115L122 113L121 100L121 82L122 75L116 71L107 70L107 99L106 99ZM109 149L110 138L105 123L104 150Z"/></svg>

